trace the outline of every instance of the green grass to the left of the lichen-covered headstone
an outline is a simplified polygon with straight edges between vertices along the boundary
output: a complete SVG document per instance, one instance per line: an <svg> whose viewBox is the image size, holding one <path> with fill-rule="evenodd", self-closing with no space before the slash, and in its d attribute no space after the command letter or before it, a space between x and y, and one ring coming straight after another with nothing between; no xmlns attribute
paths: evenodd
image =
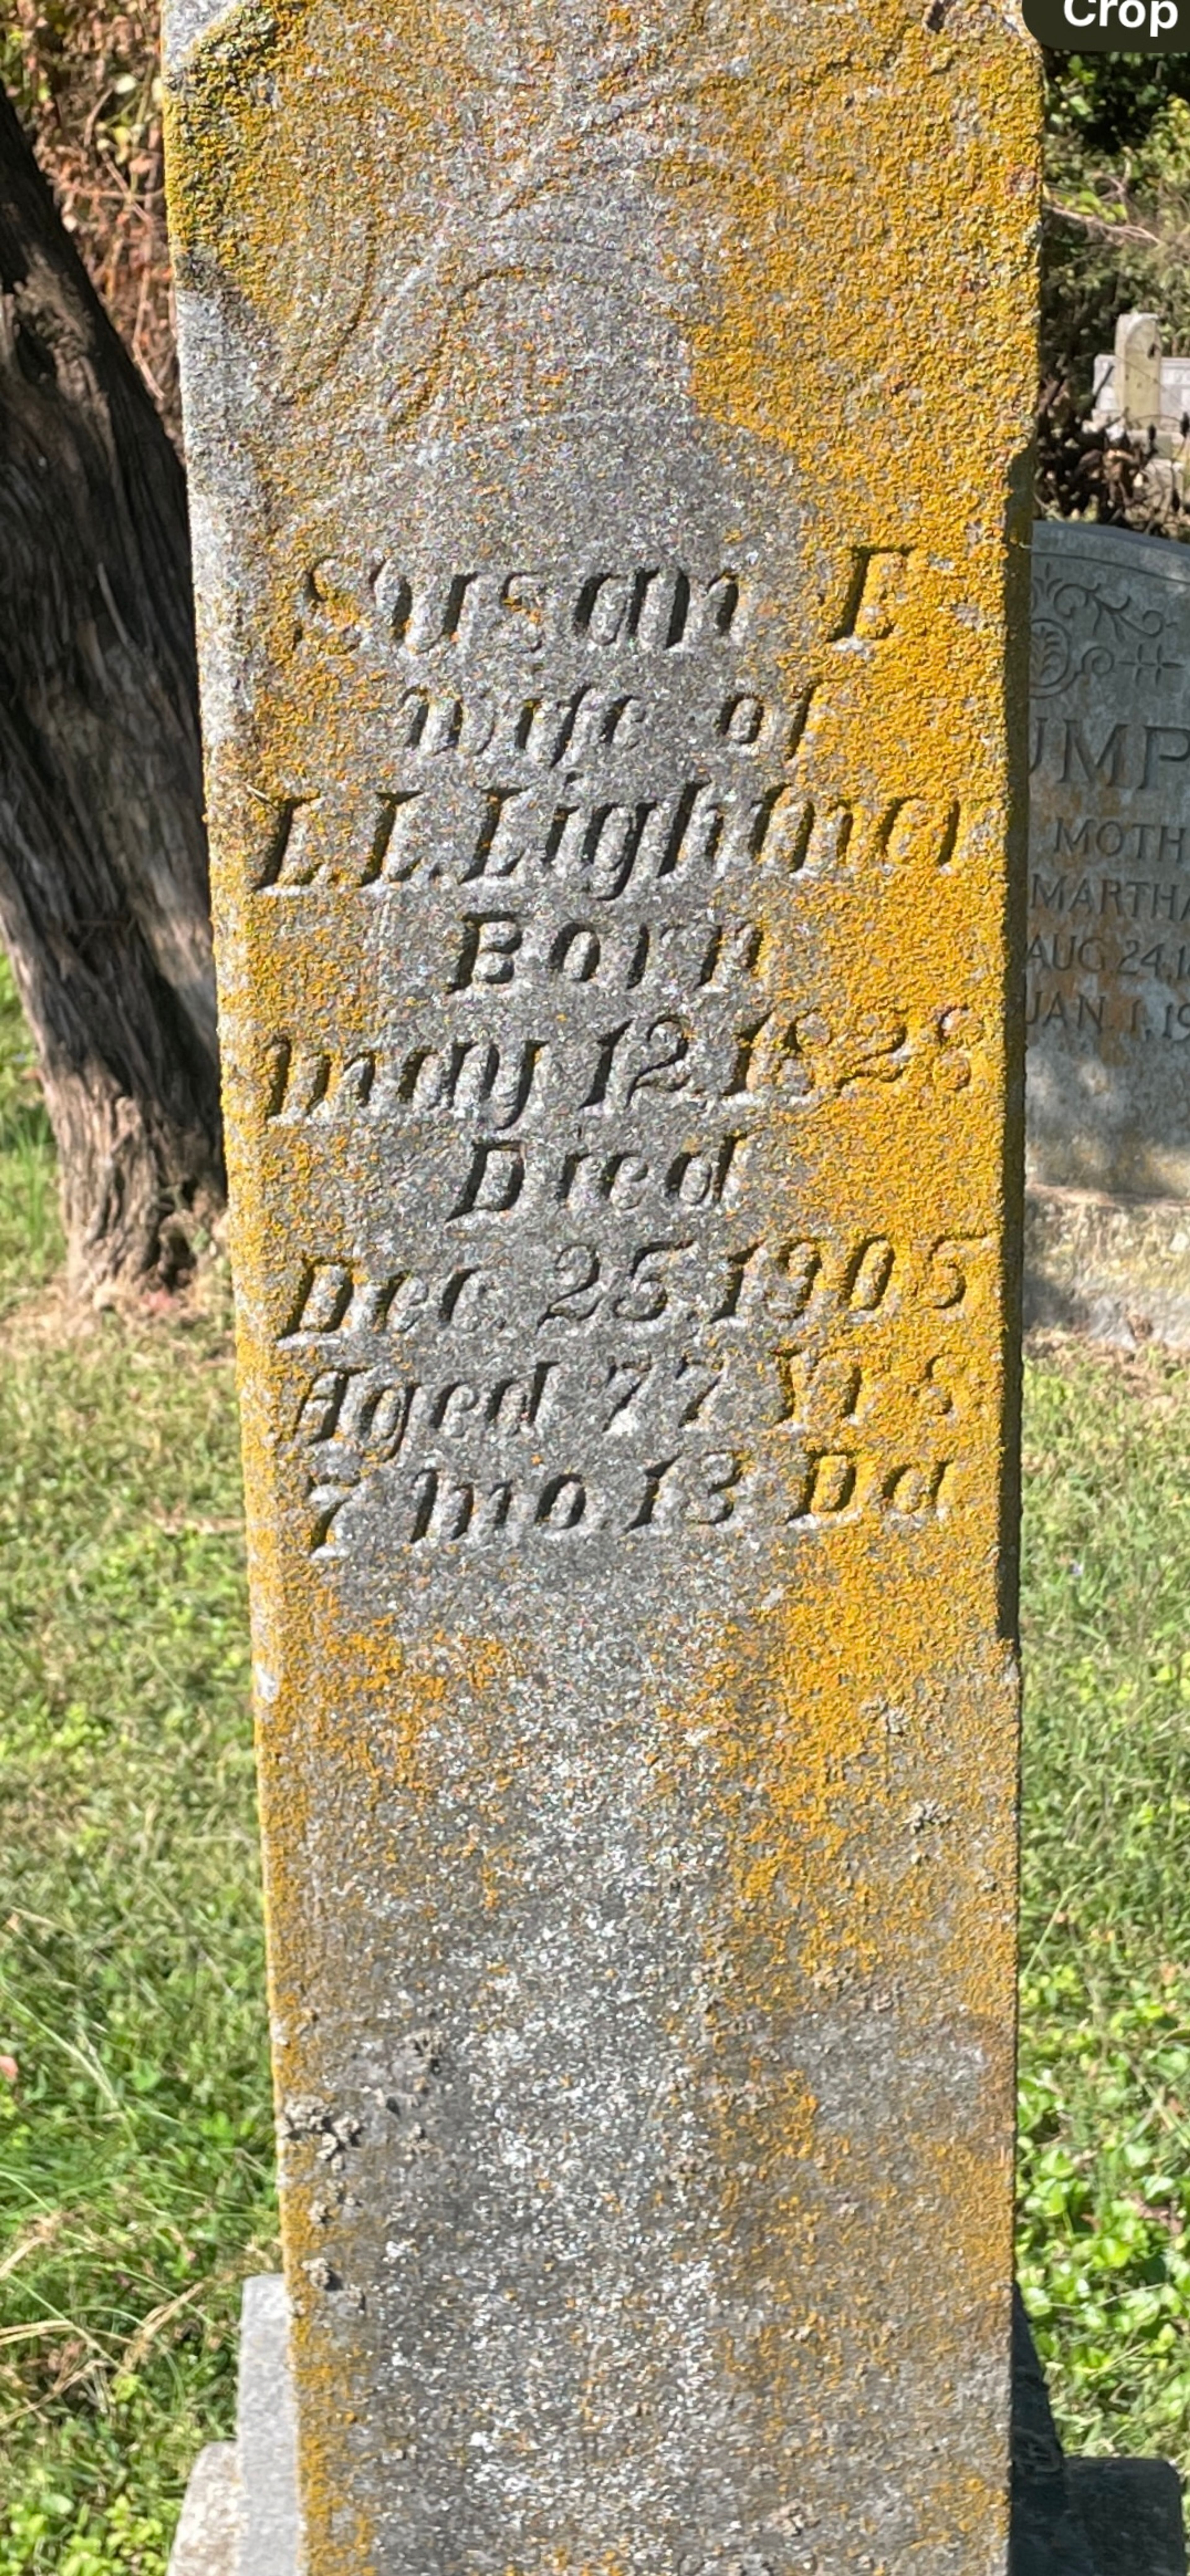
<svg viewBox="0 0 1190 2576"><path fill-rule="evenodd" d="M8 1061L0 1314L57 1249ZM0 1327L0 2576L160 2576L276 2264L227 1316Z"/></svg>

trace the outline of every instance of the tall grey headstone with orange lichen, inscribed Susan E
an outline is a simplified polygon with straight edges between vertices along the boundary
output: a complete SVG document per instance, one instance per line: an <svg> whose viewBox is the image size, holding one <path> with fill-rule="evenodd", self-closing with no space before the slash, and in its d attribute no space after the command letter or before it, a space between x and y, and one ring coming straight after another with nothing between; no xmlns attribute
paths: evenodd
<svg viewBox="0 0 1190 2576"><path fill-rule="evenodd" d="M930 15L173 10L312 2576L1002 2568L1038 72Z"/></svg>

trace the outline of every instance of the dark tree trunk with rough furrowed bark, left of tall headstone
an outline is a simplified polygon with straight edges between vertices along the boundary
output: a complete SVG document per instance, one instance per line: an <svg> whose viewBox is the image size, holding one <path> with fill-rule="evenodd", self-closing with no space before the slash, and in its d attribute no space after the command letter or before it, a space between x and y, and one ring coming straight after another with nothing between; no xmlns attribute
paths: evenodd
<svg viewBox="0 0 1190 2576"><path fill-rule="evenodd" d="M185 479L0 90L0 938L80 1293L222 1208Z"/></svg>

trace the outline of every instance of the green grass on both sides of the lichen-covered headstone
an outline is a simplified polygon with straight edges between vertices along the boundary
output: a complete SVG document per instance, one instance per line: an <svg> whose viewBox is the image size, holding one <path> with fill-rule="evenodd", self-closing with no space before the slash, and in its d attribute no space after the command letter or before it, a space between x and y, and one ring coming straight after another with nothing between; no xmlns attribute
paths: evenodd
<svg viewBox="0 0 1190 2576"><path fill-rule="evenodd" d="M0 976L0 2576L162 2576L276 2264L232 1368L36 1321L26 1061ZM1053 1345L1025 1450L1020 2267L1066 2442L1190 2468L1190 1368Z"/></svg>

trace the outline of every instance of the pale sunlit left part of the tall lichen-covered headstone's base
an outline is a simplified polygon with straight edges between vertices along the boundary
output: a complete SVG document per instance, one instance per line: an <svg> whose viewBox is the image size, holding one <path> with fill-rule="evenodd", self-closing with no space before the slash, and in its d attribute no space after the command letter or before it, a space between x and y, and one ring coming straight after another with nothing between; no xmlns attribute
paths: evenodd
<svg viewBox="0 0 1190 2576"><path fill-rule="evenodd" d="M198 2452L170 2576L299 2576L296 2416L281 2275L245 2280L234 2442Z"/></svg>

